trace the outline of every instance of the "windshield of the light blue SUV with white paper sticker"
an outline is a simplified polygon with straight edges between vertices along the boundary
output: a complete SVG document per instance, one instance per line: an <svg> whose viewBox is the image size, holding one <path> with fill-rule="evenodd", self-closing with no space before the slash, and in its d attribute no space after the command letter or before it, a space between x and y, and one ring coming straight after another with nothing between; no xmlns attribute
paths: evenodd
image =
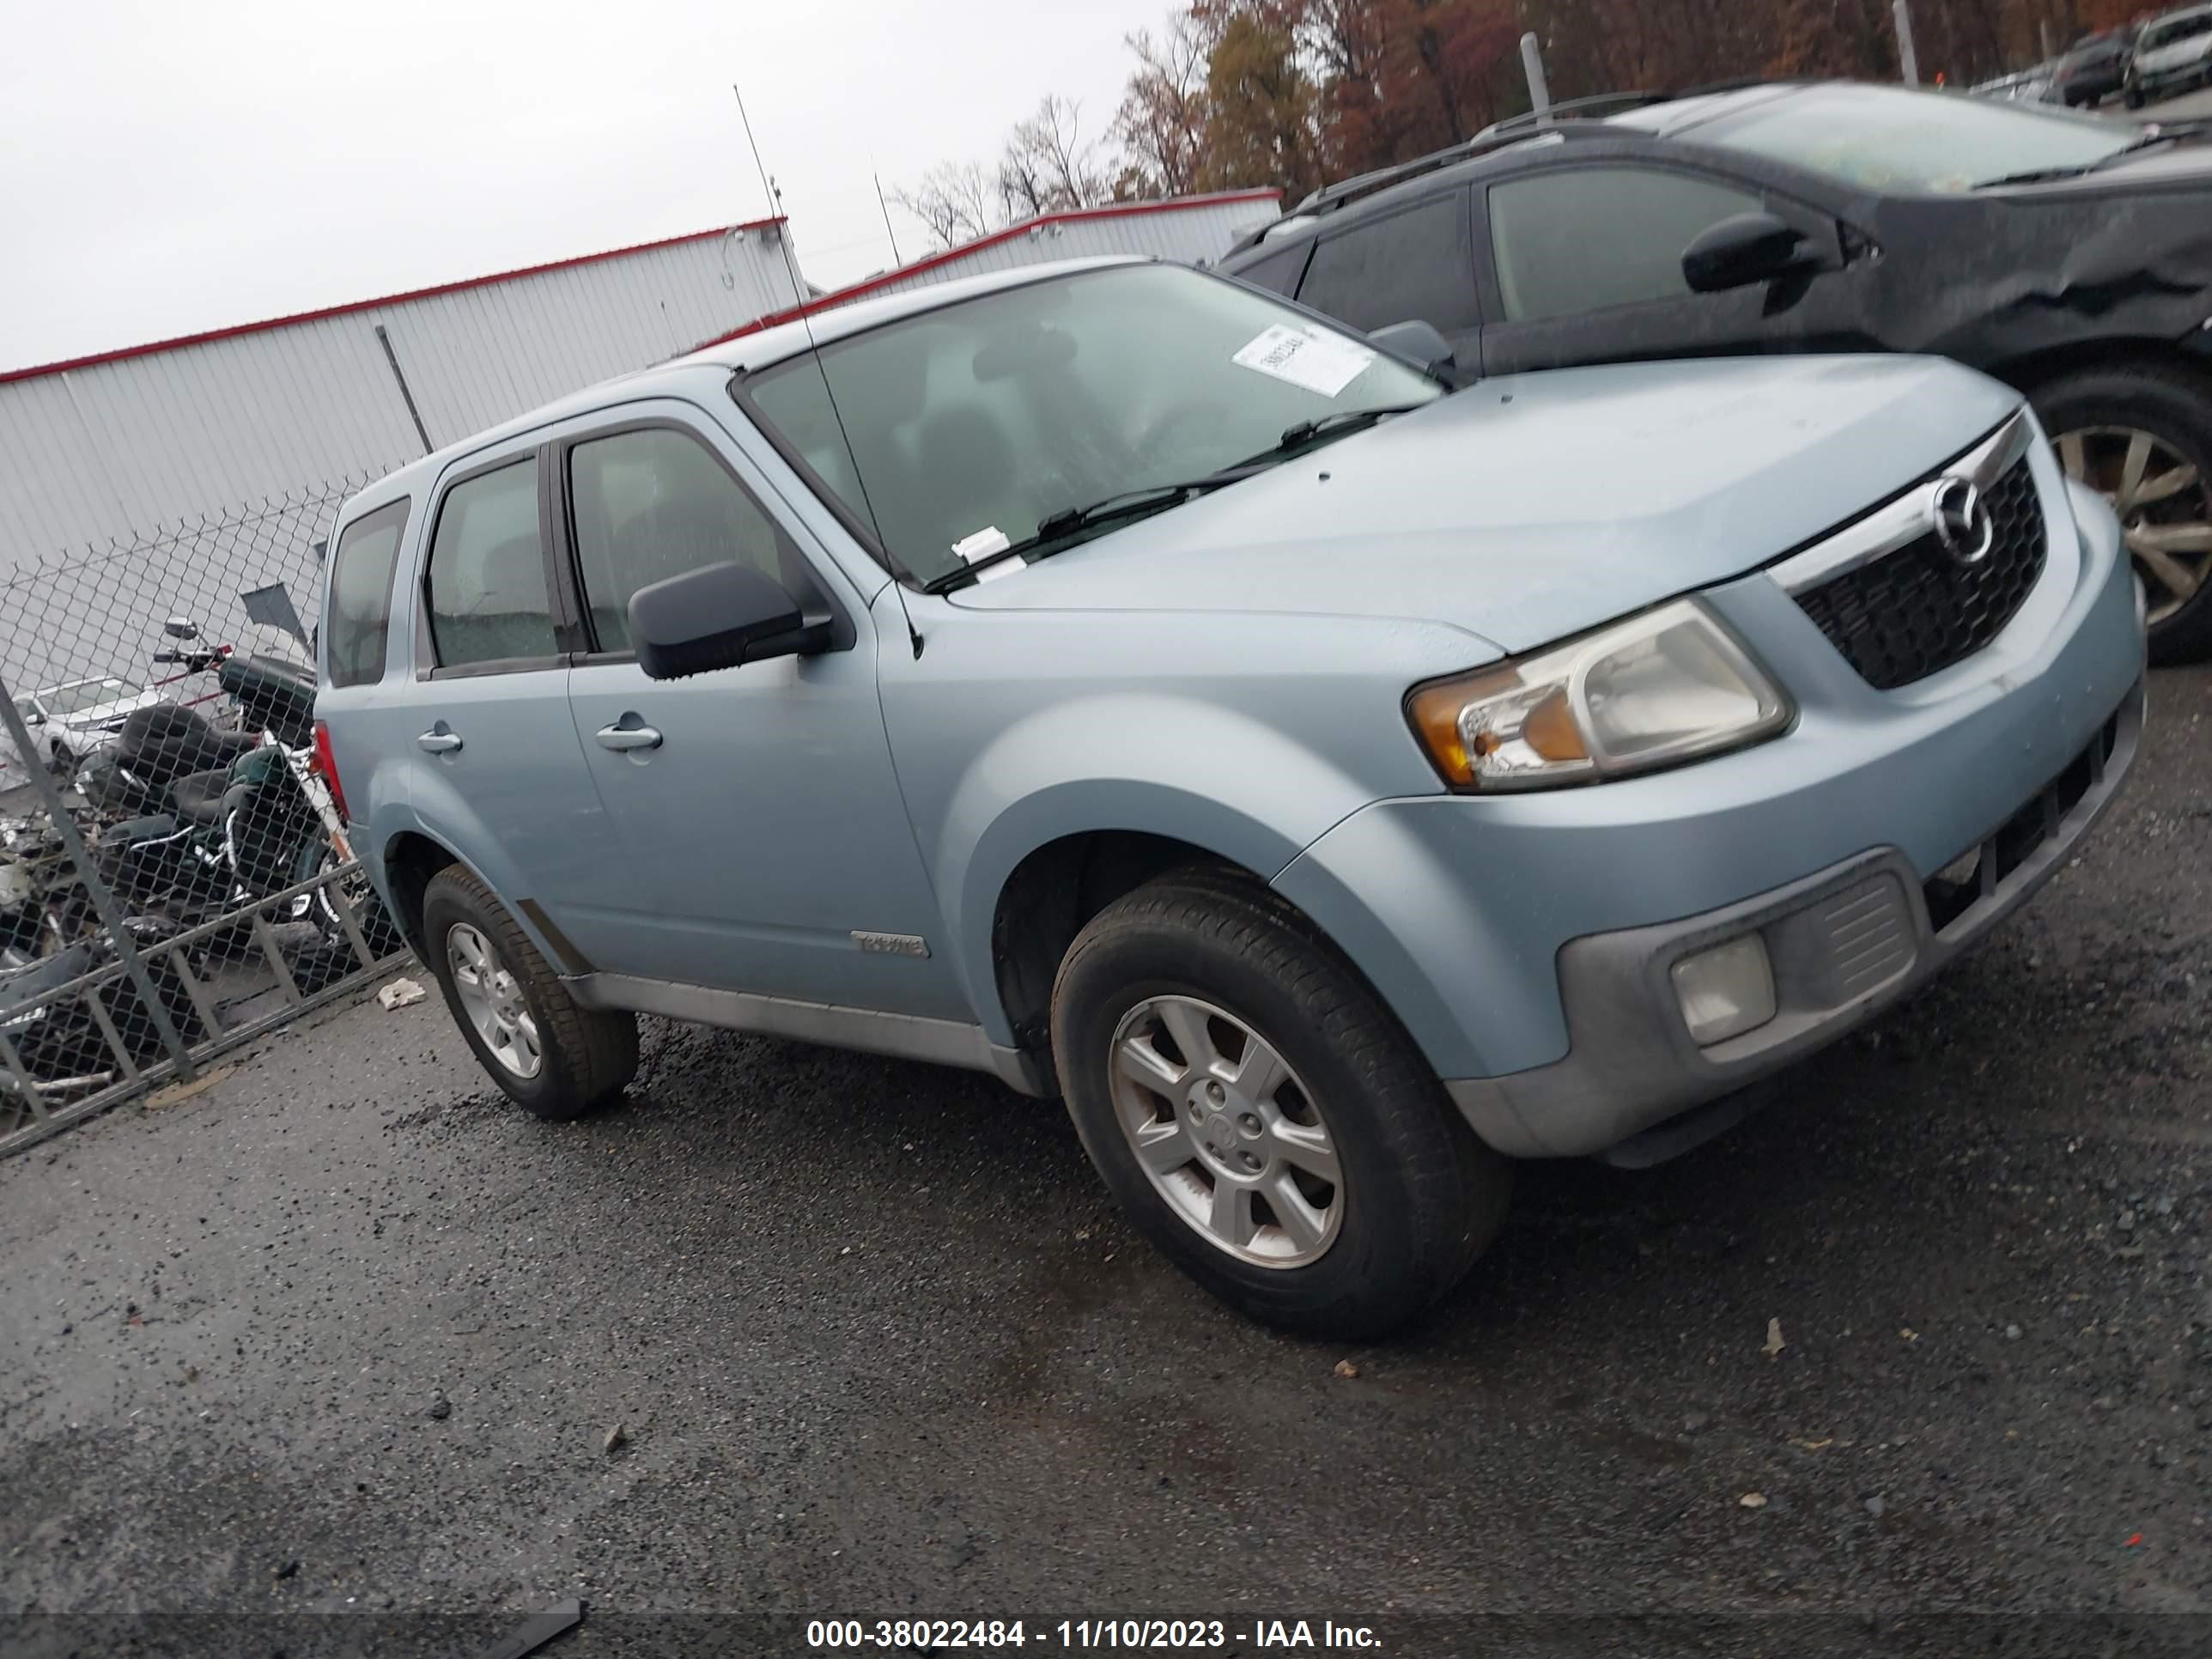
<svg viewBox="0 0 2212 1659"><path fill-rule="evenodd" d="M739 394L931 582L964 568L956 542L1020 544L1053 513L1203 478L1301 420L1427 403L1442 385L1248 288L1113 265L887 323Z"/></svg>

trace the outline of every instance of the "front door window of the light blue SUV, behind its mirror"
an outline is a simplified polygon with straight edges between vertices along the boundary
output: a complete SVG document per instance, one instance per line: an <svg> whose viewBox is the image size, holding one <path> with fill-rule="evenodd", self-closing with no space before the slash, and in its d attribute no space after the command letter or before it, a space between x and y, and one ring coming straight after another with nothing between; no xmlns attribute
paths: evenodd
<svg viewBox="0 0 2212 1659"><path fill-rule="evenodd" d="M792 586L799 549L697 440L670 427L568 451L575 560L599 650L630 648L630 595L703 564L743 562Z"/></svg>

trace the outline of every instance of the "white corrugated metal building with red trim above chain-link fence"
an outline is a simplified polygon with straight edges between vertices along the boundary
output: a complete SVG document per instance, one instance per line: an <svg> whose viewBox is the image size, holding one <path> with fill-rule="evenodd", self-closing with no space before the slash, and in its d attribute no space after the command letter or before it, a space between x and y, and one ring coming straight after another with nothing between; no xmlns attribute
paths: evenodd
<svg viewBox="0 0 2212 1659"><path fill-rule="evenodd" d="M0 568L374 478L807 292L783 219L0 374Z"/></svg>

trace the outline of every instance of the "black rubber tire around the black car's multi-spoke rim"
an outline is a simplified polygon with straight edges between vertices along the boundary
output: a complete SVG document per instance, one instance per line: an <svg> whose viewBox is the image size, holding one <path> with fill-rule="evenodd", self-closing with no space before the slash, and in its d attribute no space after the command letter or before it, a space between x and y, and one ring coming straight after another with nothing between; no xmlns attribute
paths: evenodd
<svg viewBox="0 0 2212 1659"><path fill-rule="evenodd" d="M2090 369L2075 369L2031 389L2035 414L2059 447L2066 460L2066 438L2081 431L2141 431L2172 451L2181 462L2197 467L2197 487L2183 498L2168 498L2146 509L2161 526L2179 522L2212 524L2212 378L2166 363L2110 363ZM2110 453L2110 451L2108 451ZM2108 487L2110 460L2095 467L2090 456L2090 478L2099 489ZM2188 515L2197 518L2190 520ZM2170 615L2152 615L2150 661L2159 666L2203 661L2212 657L2212 564L2205 555L2183 557L2190 568L2203 575L2194 593ZM2141 560L2137 560L2141 568ZM2148 582L2152 613L2159 611L2159 582Z"/></svg>

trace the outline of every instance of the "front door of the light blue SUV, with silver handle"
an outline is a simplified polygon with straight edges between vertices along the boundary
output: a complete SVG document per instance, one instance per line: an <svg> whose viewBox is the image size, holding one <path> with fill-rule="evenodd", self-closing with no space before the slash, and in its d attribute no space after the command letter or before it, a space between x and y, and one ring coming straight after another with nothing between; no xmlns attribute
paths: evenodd
<svg viewBox="0 0 2212 1659"><path fill-rule="evenodd" d="M564 577L586 633L568 677L573 741L635 878L604 967L973 1020L951 958L933 953L938 909L891 772L867 595L690 403L564 427L555 449ZM648 679L630 595L723 560L827 604L836 646Z"/></svg>

